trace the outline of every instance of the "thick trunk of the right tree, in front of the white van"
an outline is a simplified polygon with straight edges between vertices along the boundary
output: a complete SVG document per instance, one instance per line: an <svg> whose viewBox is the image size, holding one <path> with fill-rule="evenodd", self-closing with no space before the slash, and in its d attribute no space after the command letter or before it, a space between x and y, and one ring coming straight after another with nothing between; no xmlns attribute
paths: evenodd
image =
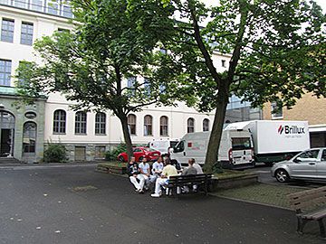
<svg viewBox="0 0 326 244"><path fill-rule="evenodd" d="M226 83L225 80L222 83ZM218 148L220 145L223 125L225 120L225 111L228 103L228 86L221 87L217 93L216 114L214 117L212 132L206 152L204 169L206 173L212 173L213 165L218 161Z"/></svg>

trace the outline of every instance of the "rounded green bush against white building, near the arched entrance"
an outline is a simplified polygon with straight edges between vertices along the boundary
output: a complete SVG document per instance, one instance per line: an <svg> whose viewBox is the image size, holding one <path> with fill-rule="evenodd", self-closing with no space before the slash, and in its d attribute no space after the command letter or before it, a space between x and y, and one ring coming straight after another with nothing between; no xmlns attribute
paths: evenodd
<svg viewBox="0 0 326 244"><path fill-rule="evenodd" d="M45 163L65 163L67 162L66 151L62 144L48 143L44 150L43 161Z"/></svg>

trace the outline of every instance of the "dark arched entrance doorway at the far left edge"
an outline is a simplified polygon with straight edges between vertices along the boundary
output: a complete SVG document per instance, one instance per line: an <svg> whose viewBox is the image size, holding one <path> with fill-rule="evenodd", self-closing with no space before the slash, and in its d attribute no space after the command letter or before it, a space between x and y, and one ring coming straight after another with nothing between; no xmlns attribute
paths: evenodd
<svg viewBox="0 0 326 244"><path fill-rule="evenodd" d="M0 157L14 155L14 116L0 111Z"/></svg>

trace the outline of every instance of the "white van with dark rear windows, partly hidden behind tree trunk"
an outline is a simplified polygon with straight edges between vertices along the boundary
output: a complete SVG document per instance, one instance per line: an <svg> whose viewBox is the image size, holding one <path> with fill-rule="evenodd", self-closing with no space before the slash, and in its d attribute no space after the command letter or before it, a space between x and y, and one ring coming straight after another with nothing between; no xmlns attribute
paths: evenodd
<svg viewBox="0 0 326 244"><path fill-rule="evenodd" d="M209 136L210 131L186 134L171 150L170 159L187 165L189 158L195 158L198 164L204 164ZM218 150L218 161L224 168L254 167L251 134L244 130L224 130Z"/></svg>

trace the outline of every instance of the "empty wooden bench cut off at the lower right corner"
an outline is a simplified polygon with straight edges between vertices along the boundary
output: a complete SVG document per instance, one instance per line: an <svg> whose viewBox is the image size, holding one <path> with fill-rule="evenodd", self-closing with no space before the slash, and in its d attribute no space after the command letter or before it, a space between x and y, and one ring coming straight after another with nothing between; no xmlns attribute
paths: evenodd
<svg viewBox="0 0 326 244"><path fill-rule="evenodd" d="M288 198L292 209L296 212L297 232L303 234L303 227L308 221L318 221L321 238L326 239L325 226L322 221L326 217L326 186L292 193L288 195Z"/></svg>

